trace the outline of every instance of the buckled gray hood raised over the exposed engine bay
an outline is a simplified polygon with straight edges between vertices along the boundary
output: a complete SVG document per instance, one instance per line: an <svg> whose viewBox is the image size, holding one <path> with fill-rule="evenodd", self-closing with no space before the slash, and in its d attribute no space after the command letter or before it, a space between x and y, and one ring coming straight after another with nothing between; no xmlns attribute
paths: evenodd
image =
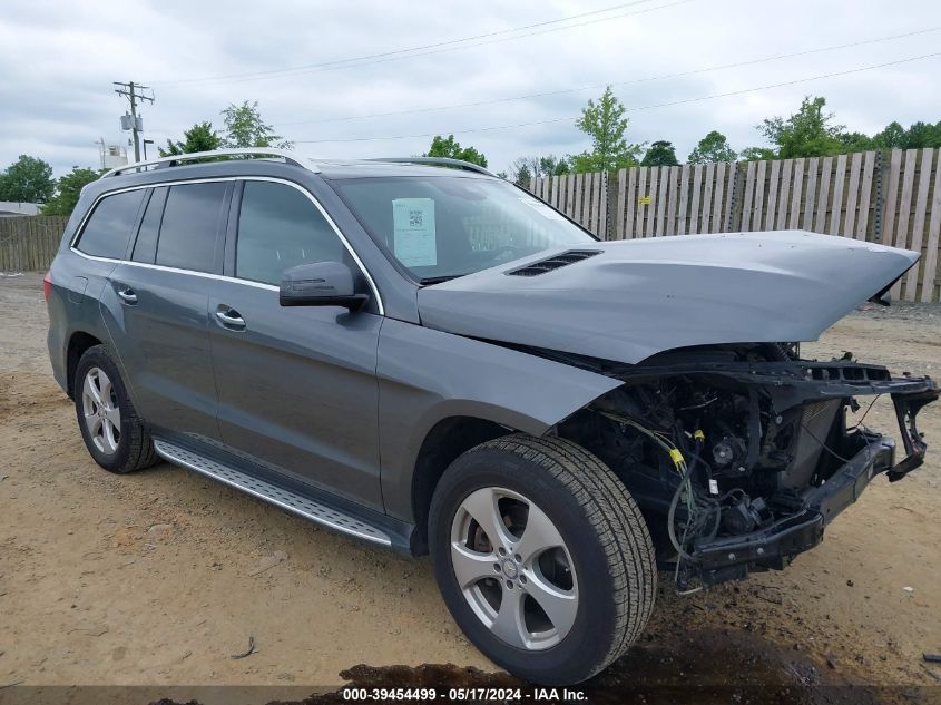
<svg viewBox="0 0 941 705"><path fill-rule="evenodd" d="M579 245L601 254L536 276L540 253L418 293L422 325L626 363L689 345L813 341L919 255L804 231Z"/></svg>

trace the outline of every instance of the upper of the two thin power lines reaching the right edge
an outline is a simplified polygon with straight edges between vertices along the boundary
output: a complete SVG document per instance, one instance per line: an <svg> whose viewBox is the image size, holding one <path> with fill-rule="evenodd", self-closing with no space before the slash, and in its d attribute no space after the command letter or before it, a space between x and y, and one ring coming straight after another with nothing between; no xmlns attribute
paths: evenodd
<svg viewBox="0 0 941 705"><path fill-rule="evenodd" d="M321 124L325 124L325 123L344 123L344 121L349 121L349 120L364 120L364 119L367 119L367 118L375 118L375 117L394 117L394 116L399 116L399 115L415 115L415 114L420 114L420 112L438 112L438 111L441 111L441 110L452 110L452 109L458 109L458 108L477 108L477 107L487 106L487 105L497 105L497 104L501 104L501 102L512 102L514 100L528 100L528 99L531 99L531 98L545 98L545 97L548 97L548 96L561 96L561 95L566 95L566 94L580 92L582 90L592 90L592 89L598 89L598 88L605 88L606 86L629 86L629 85L634 85L634 84L645 84L645 82L650 82L650 81L666 80L666 79L670 79L670 78L684 78L684 77L687 77L687 76L695 76L695 75L698 75L698 74L706 74L706 72L709 72L709 71L719 71L719 70L726 70L726 69L732 69L732 68L741 68L743 66L754 66L756 63L765 63L765 62L768 62L768 61L780 61L780 60L783 60L783 59L793 59L793 58L796 58L796 57L811 56L811 55L814 55L814 53L823 53L825 51L837 51L837 50L841 50L841 49L850 49L850 48L853 48L853 47L862 47L862 46L865 46L865 45L873 45L873 43L878 43L878 42L881 42L881 41L890 41L890 40L893 40L893 39L903 39L903 38L908 38L908 37L915 37L915 36L925 35L925 33L929 33L929 32L937 32L939 30L941 30L941 27L930 27L928 29L919 29L919 30L914 30L914 31L911 31L911 32L904 32L902 35L891 35L889 37L878 37L875 39L863 39L863 40L860 40L860 41L853 41L853 42L843 43L843 45L833 45L833 46L830 46L830 47L820 47L817 49L805 49L805 50L802 50L802 51L794 51L794 52L791 52L791 53L780 53L780 55L774 55L774 56L770 56L770 57L763 57L763 58L759 58L759 59L747 59L747 60L744 60L744 61L736 61L734 63L722 63L722 65L718 65L718 66L710 66L710 67L700 68L700 69L690 69L688 71L678 71L676 74L661 74L659 76L635 78L635 79L626 80L626 81L615 81L615 82L606 82L606 84L591 84L591 85L588 85L588 86L579 86L578 88L563 88L563 89L559 89L559 90L545 90L545 91L539 91L539 92L525 94L522 96L510 96L510 97L506 97L506 98L493 98L493 99L490 99L490 100L476 100L476 101L472 101L472 102L460 102L460 104L448 105L448 106L433 106L433 107L427 107L427 108L410 108L408 110L390 110L388 112L372 112L372 114L369 114L369 115L351 115L351 116L343 116L343 117L321 118L321 119L316 119L316 120L277 121L277 125L280 125L280 126L285 126L285 125L321 125Z"/></svg>

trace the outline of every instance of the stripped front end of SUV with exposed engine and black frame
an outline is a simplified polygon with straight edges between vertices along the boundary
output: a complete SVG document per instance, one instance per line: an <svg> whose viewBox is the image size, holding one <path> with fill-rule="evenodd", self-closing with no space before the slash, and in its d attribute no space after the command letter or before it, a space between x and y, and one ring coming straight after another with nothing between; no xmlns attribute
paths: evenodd
<svg viewBox="0 0 941 705"><path fill-rule="evenodd" d="M558 429L621 478L680 590L784 568L876 474L896 481L923 461L915 419L938 399L933 381L797 352L762 343L598 363L624 385ZM847 425L856 398L880 395L894 404L901 460L864 415Z"/></svg>

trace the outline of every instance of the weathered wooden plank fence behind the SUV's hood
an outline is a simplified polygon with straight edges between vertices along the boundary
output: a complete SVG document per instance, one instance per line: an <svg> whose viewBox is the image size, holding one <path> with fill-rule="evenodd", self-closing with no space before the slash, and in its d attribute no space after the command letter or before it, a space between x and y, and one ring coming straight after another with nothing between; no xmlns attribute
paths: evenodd
<svg viewBox="0 0 941 705"><path fill-rule="evenodd" d="M529 189L605 239L806 229L913 249L921 261L893 297L941 298L939 149L637 167Z"/></svg>

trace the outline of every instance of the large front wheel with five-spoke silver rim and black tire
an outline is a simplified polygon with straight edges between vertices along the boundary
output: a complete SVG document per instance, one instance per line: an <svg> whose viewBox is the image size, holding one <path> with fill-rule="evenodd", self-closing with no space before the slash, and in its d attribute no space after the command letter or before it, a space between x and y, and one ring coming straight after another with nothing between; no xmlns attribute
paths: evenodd
<svg viewBox="0 0 941 705"><path fill-rule="evenodd" d="M486 526L501 538L491 541ZM637 639L654 607L654 547L636 502L567 440L514 434L460 456L435 488L429 545L464 634L533 683L597 674Z"/></svg>

